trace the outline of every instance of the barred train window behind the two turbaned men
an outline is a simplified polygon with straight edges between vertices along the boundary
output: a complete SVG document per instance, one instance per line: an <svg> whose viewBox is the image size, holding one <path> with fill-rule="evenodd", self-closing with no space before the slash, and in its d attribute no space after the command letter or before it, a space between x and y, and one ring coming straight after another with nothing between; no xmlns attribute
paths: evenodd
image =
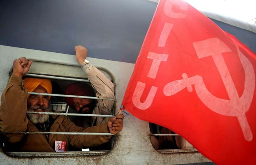
<svg viewBox="0 0 256 165"><path fill-rule="evenodd" d="M73 123L75 123L76 125L79 123L77 121L88 121L87 123L91 123L91 119L95 116L95 117L102 117L102 118L108 118L108 117L112 117L115 114L115 109L113 108L111 110L111 114L108 115L102 115L102 114L85 114L85 113L78 113L76 110L74 110L73 108L71 108L70 106L68 106L66 104L65 101L65 97L79 97L81 99L85 99L88 98L88 96L76 96L76 95L65 95L64 91L66 89L66 87L73 83L73 82L83 82L83 83L87 83L88 85L91 85L88 78L85 77L85 75L83 73L79 73L79 72L83 72L80 68L80 66L71 66L71 70L75 69L77 72L75 76L71 76L72 73L67 72L67 75L65 75L66 73L60 73L60 75L57 74L49 74L48 72L45 73L38 73L37 70L37 66L35 64L39 64L38 67L40 67L40 61L39 62L35 62L34 60L34 68L30 69L30 72L26 74L26 76L24 76L24 78L26 77L34 77L34 78L43 78L43 79L50 79L52 82L52 94L45 94L45 95L50 95L50 112L27 112L27 113L42 113L42 114L47 114L47 115L66 115L70 118L71 121L73 121ZM45 62L44 62L45 63ZM52 65L54 66L54 68L56 68L55 64L48 64L48 65ZM58 67L62 67L62 68L58 68L55 69L56 70L62 70L63 67L67 67L62 65L58 65L56 64ZM47 70L47 69L46 69ZM54 72L53 71L53 72ZM102 71L113 83L114 83L114 77L113 75L111 75L111 73L109 71L107 71L106 69L104 69L104 71ZM109 73L108 73L109 72ZM77 74L80 74L80 76L77 76ZM91 85L92 86L92 85ZM29 94L36 94L33 92L29 92ZM98 100L97 97L92 97L90 96L90 99L95 99ZM116 104L116 101L114 99L108 99L108 100L112 100L114 101L114 107ZM96 101L97 103L97 101ZM95 103L95 105L96 105ZM91 126L90 124L86 127ZM45 134L46 137L49 137L50 134L67 134L67 135L73 135L73 134L78 134L78 135L84 135L84 134L90 134L92 136L102 136L102 135L112 135L110 133L100 133L100 132L48 132L48 131L44 131L44 132L21 132L22 134ZM19 134L21 134L19 133ZM26 135L27 136L27 135ZM69 151L66 152L13 152L8 150L7 145L5 145L5 139L3 138L3 136L0 136L0 142L1 142L1 147L3 148L3 151L5 151L5 153L7 153L8 156L15 156L15 157L53 157L53 156L89 156L89 155L103 155L104 153L107 153L111 150L111 148L114 145L114 136L111 137L111 140L109 140L108 142L100 145L100 146L95 146L95 147L86 147L86 148L74 148L71 145L69 146ZM2 139L3 138L3 139Z"/></svg>

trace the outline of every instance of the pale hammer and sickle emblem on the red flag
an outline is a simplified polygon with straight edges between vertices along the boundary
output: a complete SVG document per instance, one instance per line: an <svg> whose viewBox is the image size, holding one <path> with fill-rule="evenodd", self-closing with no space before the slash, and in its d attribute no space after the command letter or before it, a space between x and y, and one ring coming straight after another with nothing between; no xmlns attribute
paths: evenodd
<svg viewBox="0 0 256 165"><path fill-rule="evenodd" d="M236 116L244 134L244 138L247 141L251 141L253 135L245 115L251 106L255 89L255 73L251 62L244 56L244 54L242 54L242 52L240 52L238 47L236 47L239 59L245 72L244 91L242 96L239 97L235 84L232 81L231 75L228 71L228 67L225 64L222 56L222 53L230 52L230 48L219 38L210 38L207 40L194 42L193 45L199 59L212 56L230 100L215 97L207 90L201 76L195 75L188 78L186 73L182 74L182 80L175 80L165 85L164 94L166 96L171 96L185 88L187 88L189 92L192 92L192 85L194 85L197 96L205 106L221 115Z"/></svg>

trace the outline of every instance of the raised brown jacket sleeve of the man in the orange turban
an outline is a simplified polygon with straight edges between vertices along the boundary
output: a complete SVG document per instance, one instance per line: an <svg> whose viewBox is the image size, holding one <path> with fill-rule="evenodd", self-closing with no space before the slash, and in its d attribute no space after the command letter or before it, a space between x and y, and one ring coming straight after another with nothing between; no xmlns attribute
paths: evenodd
<svg viewBox="0 0 256 165"><path fill-rule="evenodd" d="M17 133L27 129L27 91L23 87L24 80L12 75L1 97L0 130L1 132ZM24 134L5 134L7 140L15 143Z"/></svg>

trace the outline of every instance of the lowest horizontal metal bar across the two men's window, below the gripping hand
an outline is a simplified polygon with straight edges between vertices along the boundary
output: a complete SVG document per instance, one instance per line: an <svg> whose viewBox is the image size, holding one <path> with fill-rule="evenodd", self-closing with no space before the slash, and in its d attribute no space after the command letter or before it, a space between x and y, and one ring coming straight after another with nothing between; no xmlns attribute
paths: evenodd
<svg viewBox="0 0 256 165"><path fill-rule="evenodd" d="M18 133L0 132L0 134L74 134L74 135L115 135L115 134L111 134L111 133L103 133L103 132L18 132Z"/></svg>

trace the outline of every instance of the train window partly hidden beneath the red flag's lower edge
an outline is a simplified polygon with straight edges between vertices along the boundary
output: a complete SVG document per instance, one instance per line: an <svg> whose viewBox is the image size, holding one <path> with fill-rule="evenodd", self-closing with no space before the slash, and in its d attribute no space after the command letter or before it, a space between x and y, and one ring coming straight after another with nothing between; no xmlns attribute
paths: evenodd
<svg viewBox="0 0 256 165"><path fill-rule="evenodd" d="M160 153L196 152L197 150L183 137L168 128L149 123L152 146Z"/></svg>

